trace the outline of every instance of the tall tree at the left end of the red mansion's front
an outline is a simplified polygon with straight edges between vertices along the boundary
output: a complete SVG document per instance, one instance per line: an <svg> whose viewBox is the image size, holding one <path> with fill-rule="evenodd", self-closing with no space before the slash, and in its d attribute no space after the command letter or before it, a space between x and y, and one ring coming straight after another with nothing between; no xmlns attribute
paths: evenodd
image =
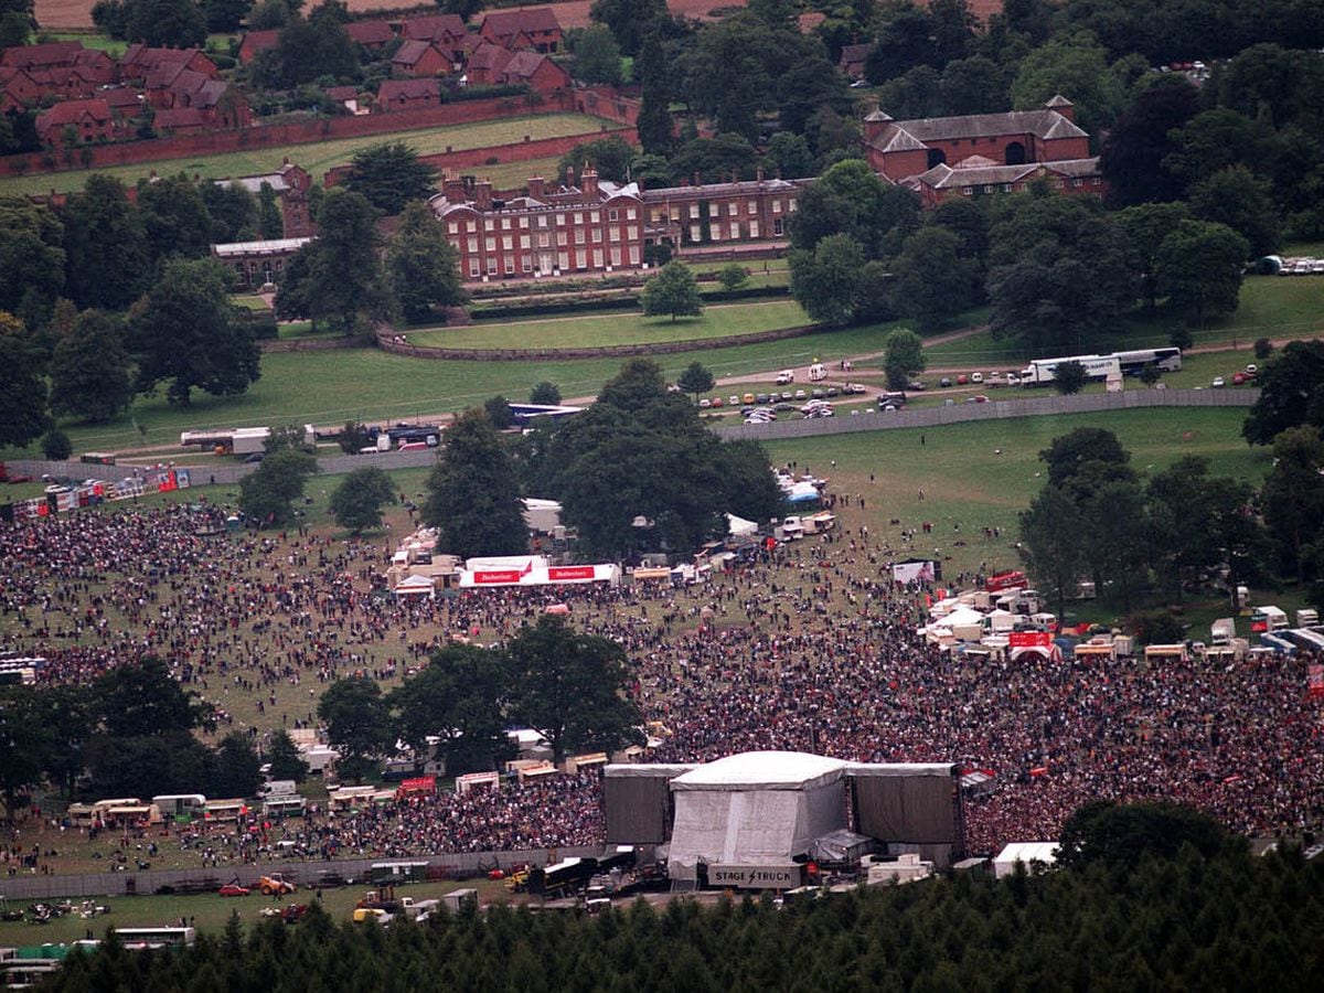
<svg viewBox="0 0 1324 993"><path fill-rule="evenodd" d="M387 245L387 283L406 320L425 320L437 307L469 299L459 281L459 253L426 204L414 201L400 214Z"/></svg>

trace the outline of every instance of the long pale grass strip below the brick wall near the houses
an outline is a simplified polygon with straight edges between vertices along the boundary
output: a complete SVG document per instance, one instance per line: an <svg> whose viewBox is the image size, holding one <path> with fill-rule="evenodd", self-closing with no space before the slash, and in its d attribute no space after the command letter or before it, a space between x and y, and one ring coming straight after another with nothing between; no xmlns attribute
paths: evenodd
<svg viewBox="0 0 1324 993"><path fill-rule="evenodd" d="M420 155L432 155L445 152L448 147L455 150L485 148L493 144L522 142L526 135L531 139L539 139L584 134L588 139L598 136L601 127L602 120L600 118L584 114L538 114L527 118L489 120L477 124L455 124L453 127L433 127L420 131L400 131L388 135L338 138L330 142L314 142L310 144L279 144L240 152L200 156L197 159L163 159L135 163L132 166L111 166L97 169L97 172L118 176L128 185L136 183L139 177L148 176L154 169L163 175L187 172L191 176L197 173L204 179L224 179L226 176L267 172L279 167L281 162L289 158L290 162L302 166L316 181L320 181L322 173L332 166L347 163L354 158L355 152L383 142L405 142ZM518 183L523 183L538 171L530 171L535 166L531 162L514 163L512 167L507 168L514 168L515 166L518 166L518 172L520 173L514 180ZM494 175L498 168L500 167L481 166L475 167L474 171L485 176L493 175L493 181L500 185ZM82 189L83 183L87 181L87 176L90 175L93 173L89 171L77 171L3 179L0 180L0 196L26 196L52 189L71 192Z"/></svg>

